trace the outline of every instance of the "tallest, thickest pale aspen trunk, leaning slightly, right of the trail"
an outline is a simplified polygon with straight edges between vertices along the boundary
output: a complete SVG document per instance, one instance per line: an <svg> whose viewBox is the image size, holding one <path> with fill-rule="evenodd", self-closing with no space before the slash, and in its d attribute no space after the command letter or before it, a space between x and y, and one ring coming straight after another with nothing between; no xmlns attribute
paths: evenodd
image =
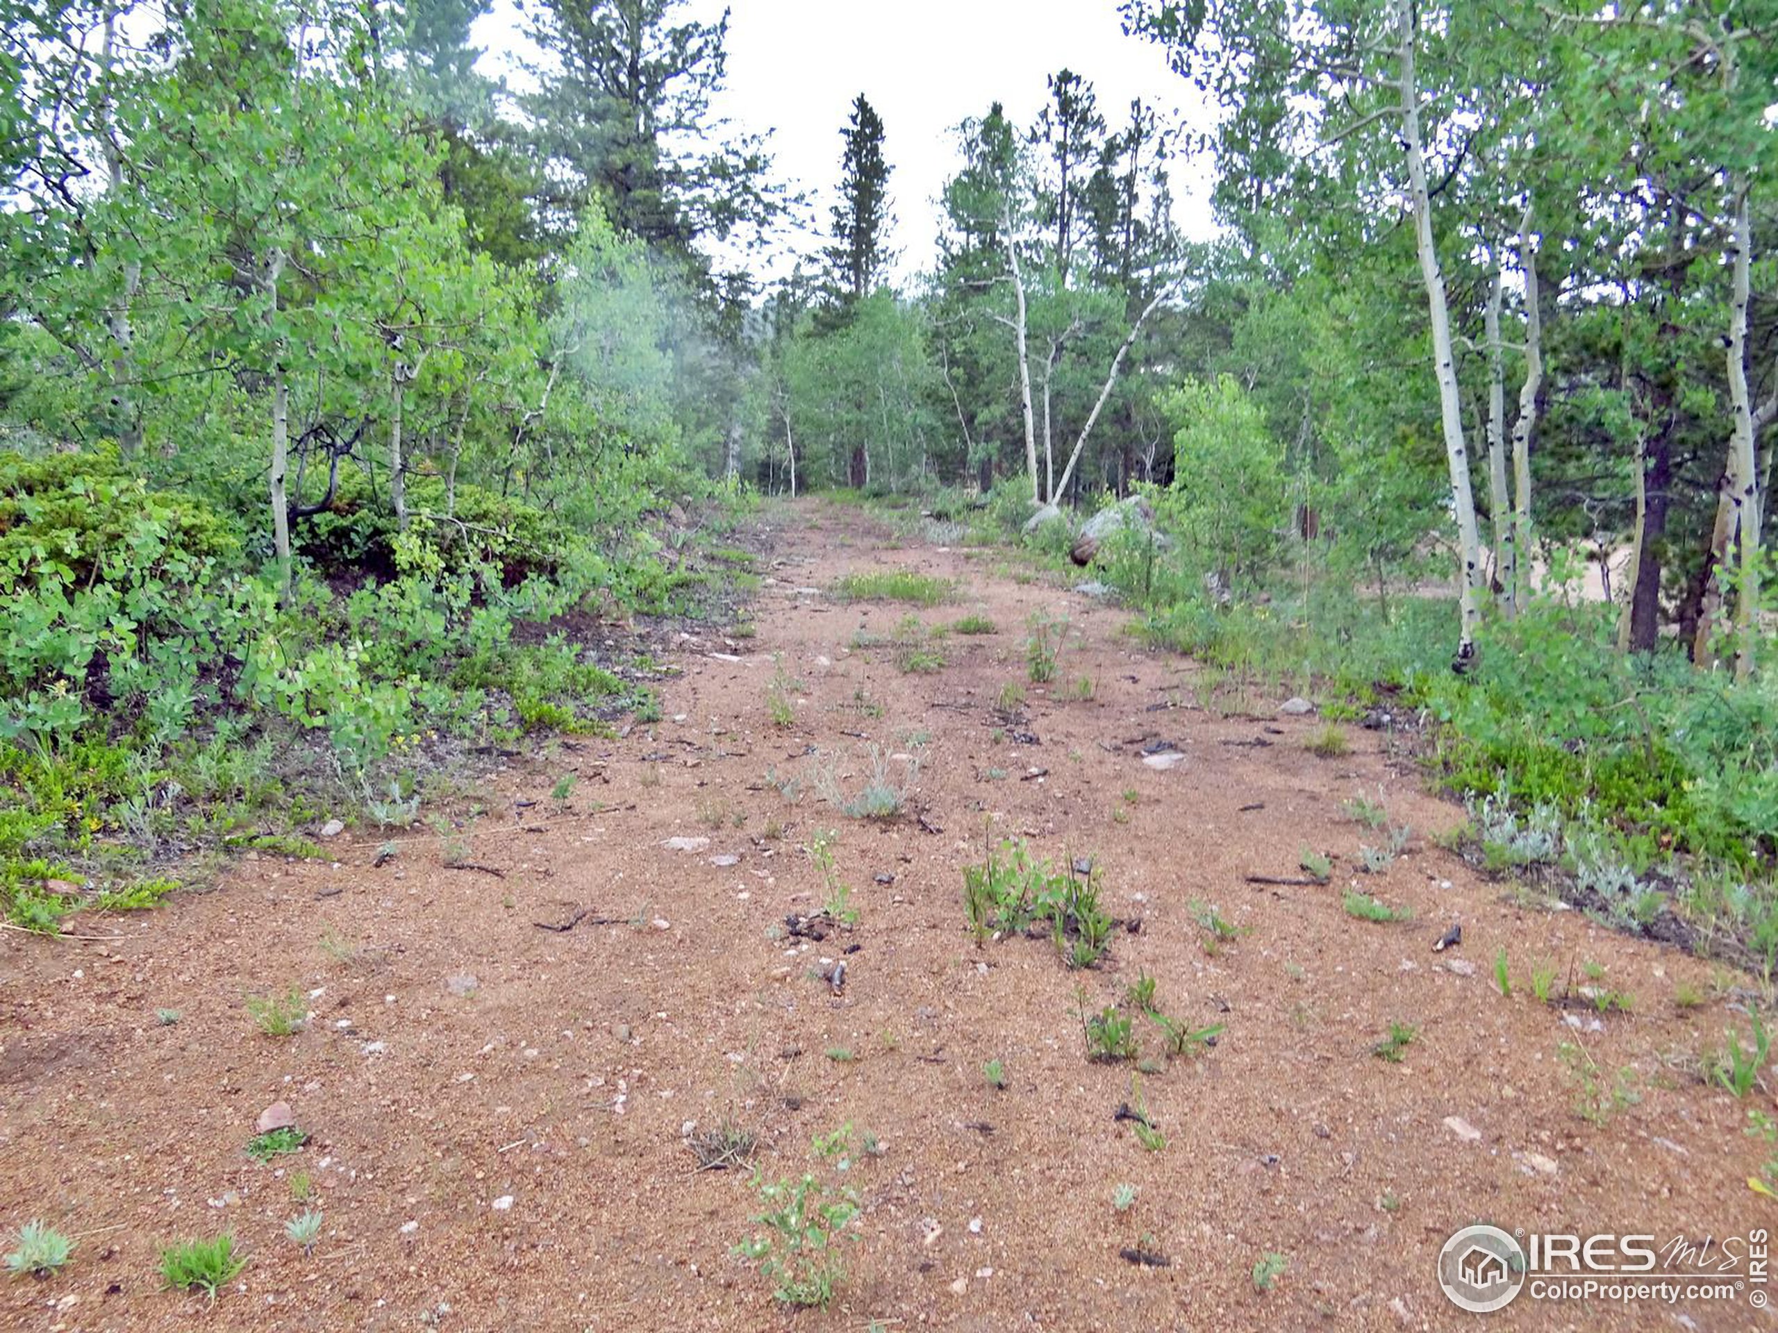
<svg viewBox="0 0 1778 1333"><path fill-rule="evenodd" d="M1476 656L1476 624L1481 608L1476 583L1481 574L1481 539L1476 533L1476 498L1469 485L1469 448L1463 441L1463 407L1458 398L1456 359L1451 350L1451 311L1446 306L1444 272L1433 240L1433 210L1426 185L1426 156L1421 148L1421 92L1414 73L1414 0L1396 0L1401 28L1401 130L1408 146L1408 187L1414 199L1415 249L1426 281L1426 306L1433 327L1433 370L1438 377L1438 405L1444 418L1446 460L1451 466L1451 505L1456 510L1458 549L1463 567L1458 574L1462 629L1456 665Z"/></svg>

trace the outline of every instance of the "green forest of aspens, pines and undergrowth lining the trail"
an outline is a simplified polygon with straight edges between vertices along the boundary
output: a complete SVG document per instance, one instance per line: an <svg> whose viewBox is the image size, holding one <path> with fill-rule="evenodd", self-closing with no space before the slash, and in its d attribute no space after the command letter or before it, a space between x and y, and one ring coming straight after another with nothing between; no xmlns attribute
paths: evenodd
<svg viewBox="0 0 1778 1333"><path fill-rule="evenodd" d="M677 0L535 7L523 92L477 0L0 11L14 921L149 899L274 805L411 819L436 750L645 720L645 663L533 629L695 604L686 505L1008 539L1054 501L1060 555L1140 492L1097 562L1150 638L1424 711L1483 855L1778 956L1766 5L1129 0L1218 121L1090 71L1029 124L983 98L901 286L894 126L836 116L786 263L809 204Z"/></svg>

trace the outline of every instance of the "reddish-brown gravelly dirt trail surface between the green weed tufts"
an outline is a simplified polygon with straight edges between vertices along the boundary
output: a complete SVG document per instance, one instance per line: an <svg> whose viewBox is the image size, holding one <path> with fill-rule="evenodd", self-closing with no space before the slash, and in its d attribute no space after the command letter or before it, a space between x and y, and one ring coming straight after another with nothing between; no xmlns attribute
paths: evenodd
<svg viewBox="0 0 1778 1333"><path fill-rule="evenodd" d="M1744 1134L1766 1098L1670 1068L1744 1027L1721 974L1518 905L1435 846L1462 810L1387 732L1350 727L1350 754L1316 757L1316 716L1213 698L1122 613L1003 553L898 542L821 503L761 524L756 636L683 642L660 723L496 775L461 846L421 825L375 866L375 830L348 832L327 844L338 864L260 857L215 892L76 926L103 938L0 937L0 1221L80 1235L59 1278L0 1285L0 1326L1446 1329L1474 1321L1433 1276L1469 1223L1659 1242L1769 1225ZM845 604L834 583L885 569L958 581L912 608L928 629L976 613L996 633L944 636L926 674L893 643L857 647L910 608ZM1070 626L1049 686L1026 681L1037 611ZM804 688L788 727L768 709L773 658ZM1010 711L1006 682L1026 691ZM896 773L893 755L919 757L898 819L811 791L823 764L857 791L871 745ZM569 766L580 780L553 802ZM1412 825L1382 873L1357 873L1383 834L1342 812L1353 796ZM821 903L816 828L837 832L859 921L811 942L784 919ZM1047 938L978 946L960 889L987 828L1058 866L1090 857L1108 910L1140 928L1079 972ZM1248 882L1305 880L1305 846L1335 853L1330 885ZM1351 883L1412 922L1348 915ZM1456 921L1462 944L1435 953ZM820 972L841 958L836 994ZM1593 963L1632 1011L1595 1024L1591 1006L1534 1001L1542 960L1558 988ZM1166 1013L1223 1031L1133 1086L1133 1066L1088 1063L1076 986L1097 1010L1138 969ZM260 1034L245 997L292 986L313 1018ZM1687 986L1702 1002L1680 1010ZM1401 1063L1373 1054L1392 1022L1417 1029ZM1159 1050L1152 1024L1136 1034ZM1597 1063L1602 1125L1575 1114L1563 1043ZM1639 1100L1609 1109L1623 1066ZM244 1145L277 1100L311 1139L260 1164ZM1115 1118L1125 1102L1163 1150ZM861 1239L829 1312L779 1310L731 1257L757 1230L749 1173L695 1169L686 1139L724 1118L759 1136L773 1177L811 1168L816 1134L875 1136L852 1153ZM311 1257L283 1235L299 1171L325 1212ZM1136 1196L1118 1210L1122 1182ZM162 1244L224 1228L252 1262L213 1306L160 1290ZM1266 1253L1285 1267L1259 1292ZM1773 1326L1746 1294L1677 1310L1520 1296L1483 1322Z"/></svg>

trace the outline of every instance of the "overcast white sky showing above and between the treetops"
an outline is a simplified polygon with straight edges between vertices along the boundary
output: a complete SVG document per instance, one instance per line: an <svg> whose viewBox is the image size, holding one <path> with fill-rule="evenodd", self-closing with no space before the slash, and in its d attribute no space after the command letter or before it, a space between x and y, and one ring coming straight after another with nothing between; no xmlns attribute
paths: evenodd
<svg viewBox="0 0 1778 1333"><path fill-rule="evenodd" d="M693 0L713 18L722 4ZM957 169L951 126L981 116L994 100L1028 124L1045 100L1044 76L1069 68L1088 78L1109 126L1131 98L1205 124L1197 91L1166 69L1159 48L1125 37L1115 0L733 0L729 80L717 110L745 130L772 130L777 172L814 203L816 226L839 178L839 128L862 92L884 119L884 153L894 167L898 275L933 254L935 197ZM510 0L475 30L489 48L487 73L517 46ZM1211 233L1209 164L1173 164L1179 222L1193 238ZM820 236L798 238L814 251Z"/></svg>

